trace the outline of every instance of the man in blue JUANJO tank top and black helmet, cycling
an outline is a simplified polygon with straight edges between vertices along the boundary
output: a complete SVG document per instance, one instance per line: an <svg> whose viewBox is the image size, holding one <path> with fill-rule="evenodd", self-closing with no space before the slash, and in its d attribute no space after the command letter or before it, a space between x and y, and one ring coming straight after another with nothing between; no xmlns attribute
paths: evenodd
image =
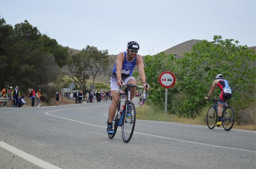
<svg viewBox="0 0 256 169"><path fill-rule="evenodd" d="M116 108L119 102L119 93L116 93L119 90L119 86L122 86L121 80L127 84L136 85L136 80L132 77L133 68L135 65L138 66L138 71L140 74L141 81L143 82L144 89L147 90L149 85L146 88L146 76L144 72L144 63L141 55L138 54L140 45L135 41L130 41L127 43L127 49L124 52L120 52L115 61L115 66L113 68L113 73L110 77L110 90L112 93L112 103L109 106L109 119L108 119L108 134L113 134L112 121L115 116ZM136 88L131 90L131 100L134 97Z"/></svg>

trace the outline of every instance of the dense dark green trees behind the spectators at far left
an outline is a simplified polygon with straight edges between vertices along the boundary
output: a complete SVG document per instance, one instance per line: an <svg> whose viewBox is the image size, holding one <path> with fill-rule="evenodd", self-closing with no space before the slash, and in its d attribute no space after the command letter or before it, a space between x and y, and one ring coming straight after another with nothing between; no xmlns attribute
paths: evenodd
<svg viewBox="0 0 256 169"><path fill-rule="evenodd" d="M67 47L58 45L46 35L41 35L27 20L14 28L0 19L0 85L37 87L56 81L61 75L60 66L65 64ZM65 52L66 51L66 52ZM60 58L56 62L56 58ZM64 58L64 59L63 59Z"/></svg>

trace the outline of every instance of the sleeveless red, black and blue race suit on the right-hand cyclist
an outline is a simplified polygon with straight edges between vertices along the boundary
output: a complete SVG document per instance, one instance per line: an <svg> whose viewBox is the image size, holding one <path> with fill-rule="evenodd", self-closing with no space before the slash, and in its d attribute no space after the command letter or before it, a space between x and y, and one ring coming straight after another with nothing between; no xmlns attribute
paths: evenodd
<svg viewBox="0 0 256 169"><path fill-rule="evenodd" d="M227 98L232 97L232 89L229 86L229 82L224 79L219 80L218 87L221 90L218 103L224 104Z"/></svg>

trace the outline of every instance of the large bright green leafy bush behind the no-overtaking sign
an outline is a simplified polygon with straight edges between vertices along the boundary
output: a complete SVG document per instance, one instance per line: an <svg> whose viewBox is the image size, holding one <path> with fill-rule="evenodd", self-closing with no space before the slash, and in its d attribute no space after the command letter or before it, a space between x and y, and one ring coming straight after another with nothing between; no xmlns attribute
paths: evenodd
<svg viewBox="0 0 256 169"><path fill-rule="evenodd" d="M233 39L222 40L221 36L213 39L196 43L181 59L164 53L144 57L145 74L151 85L150 104L164 108L165 89L158 82L163 71L171 71L176 77L175 85L168 89L168 113L196 116L208 103L204 98L217 74L223 74L230 82L233 90L230 104L235 105L240 98L248 103L236 107L237 110L255 104L255 51L239 45L238 41L233 43ZM212 96L218 97L219 93L216 88Z"/></svg>

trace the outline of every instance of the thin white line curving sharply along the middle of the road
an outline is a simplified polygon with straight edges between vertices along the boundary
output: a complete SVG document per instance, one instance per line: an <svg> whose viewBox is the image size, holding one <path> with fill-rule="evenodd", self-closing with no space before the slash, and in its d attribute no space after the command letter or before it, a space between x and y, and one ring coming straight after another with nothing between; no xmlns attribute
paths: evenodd
<svg viewBox="0 0 256 169"><path fill-rule="evenodd" d="M105 105L102 105L102 106L105 106ZM94 106L94 107L99 107L99 106ZM93 108L93 107L87 107L87 108ZM83 108L76 108L76 109L83 109ZM69 110L69 109L66 109L66 110ZM74 110L74 109L70 109L70 110ZM49 112L56 112L56 111L63 111L63 110L53 110L53 111L49 111ZM72 119L69 119L69 118L64 118L64 117L60 117L60 116L51 115L51 114L48 114L49 112L45 112L45 114L46 114L46 115L50 115L50 116L54 116L54 117L58 117L58 118L62 118L62 119L66 119L66 120L70 120L70 121L73 121L73 122L88 124L88 125L97 126L97 127L104 127L104 126L99 126L99 125L95 125L95 124L80 122L80 121L77 121L77 120L72 120ZM104 127L104 128L107 128L107 127ZM118 129L118 130L121 130L121 129ZM234 150L242 150L242 151L256 152L256 151L245 150L245 149L237 149L237 148L232 148L232 147L216 146L216 145L212 145L212 144L205 144L205 143L199 143L199 142L193 142L193 141L186 141L186 140L180 140L180 139L169 138L169 137L163 137L163 136L156 136L156 135L145 134L145 133L140 133L140 132L135 132L135 131L134 131L134 133L143 134L143 135L147 135L147 136L153 136L153 137L159 137L159 138L166 138L166 139L170 139L170 140L177 140L177 141L184 141L184 142L195 143L195 144L202 144L202 145L206 145L206 146L213 146L213 147L221 147L221 148L228 148L228 149L234 149Z"/></svg>

